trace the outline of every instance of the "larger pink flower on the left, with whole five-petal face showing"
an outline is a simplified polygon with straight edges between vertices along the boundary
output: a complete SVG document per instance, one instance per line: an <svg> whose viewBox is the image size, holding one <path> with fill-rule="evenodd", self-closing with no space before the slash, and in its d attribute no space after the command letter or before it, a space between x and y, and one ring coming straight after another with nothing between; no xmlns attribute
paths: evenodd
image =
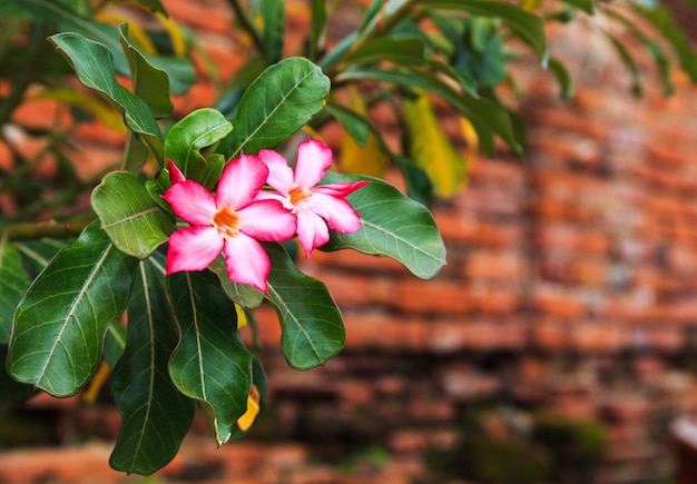
<svg viewBox="0 0 697 484"><path fill-rule="evenodd" d="M268 177L266 165L249 155L232 160L215 198L171 162L169 172L173 185L163 198L192 226L169 236L166 275L204 270L223 251L232 281L266 293L271 260L258 240L287 240L296 230L295 217L281 203L256 199Z"/></svg>

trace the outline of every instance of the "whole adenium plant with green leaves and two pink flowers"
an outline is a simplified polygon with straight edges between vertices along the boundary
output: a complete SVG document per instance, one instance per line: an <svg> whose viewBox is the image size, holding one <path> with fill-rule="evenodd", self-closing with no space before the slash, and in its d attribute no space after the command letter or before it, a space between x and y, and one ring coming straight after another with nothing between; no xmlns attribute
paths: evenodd
<svg viewBox="0 0 697 484"><path fill-rule="evenodd" d="M175 117L171 96L196 82L181 48L187 36L163 20L159 0L136 3L168 22L164 45L153 40L161 43L161 32L149 36L137 22L97 20L110 3L0 2L9 32L0 39L0 75L12 87L0 125L24 129L11 112L32 86L102 122L117 112L126 131L119 166L95 180L77 177L66 155L72 126L48 132L47 150L61 169L57 187L32 178L26 167L35 161L19 155L20 175L2 172L0 203L10 208L0 214L0 395L67 397L95 384L97 368L110 368L122 417L110 464L140 474L176 455L197 407L219 444L258 418L266 383L240 329L261 304L276 309L292 367L316 367L342 349L341 312L326 286L297 268L295 253L354 249L392 257L423 279L439 273L445 248L424 204L462 189L471 159L445 136L432 97L461 116L470 152L492 155L495 138L521 152L520 117L495 92L512 82L511 46L527 46L570 95L563 63L548 56L544 22L598 9L632 26L612 2L592 0L376 0L360 26L331 43L326 26L341 2L312 0L306 49L284 58L284 2L229 0L252 39L251 61L215 106ZM666 11L632 8L697 79L694 52ZM654 37L630 33L666 73L668 57ZM664 81L669 90L669 76ZM404 128L400 152L367 115L376 103L387 103ZM336 157L320 139L330 122L345 130ZM4 135L2 142L19 152ZM390 167L404 190L382 179ZM32 186L43 198L29 203ZM85 192L90 203L80 210Z"/></svg>

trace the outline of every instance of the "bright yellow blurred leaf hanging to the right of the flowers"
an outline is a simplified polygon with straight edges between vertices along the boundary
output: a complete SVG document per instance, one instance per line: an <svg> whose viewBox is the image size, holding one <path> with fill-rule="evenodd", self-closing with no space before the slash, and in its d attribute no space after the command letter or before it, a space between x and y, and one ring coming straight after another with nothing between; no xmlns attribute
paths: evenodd
<svg viewBox="0 0 697 484"><path fill-rule="evenodd" d="M411 131L411 158L426 172L436 196L453 197L464 187L467 161L443 131L429 95L405 99L404 116Z"/></svg>

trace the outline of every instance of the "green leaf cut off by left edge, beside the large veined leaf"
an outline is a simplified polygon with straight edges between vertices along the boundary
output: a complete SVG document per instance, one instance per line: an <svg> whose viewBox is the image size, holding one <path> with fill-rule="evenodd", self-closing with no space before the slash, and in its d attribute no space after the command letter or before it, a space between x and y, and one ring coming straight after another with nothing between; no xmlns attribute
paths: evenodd
<svg viewBox="0 0 697 484"><path fill-rule="evenodd" d="M12 314L30 284L19 251L0 234L0 344L10 339Z"/></svg>

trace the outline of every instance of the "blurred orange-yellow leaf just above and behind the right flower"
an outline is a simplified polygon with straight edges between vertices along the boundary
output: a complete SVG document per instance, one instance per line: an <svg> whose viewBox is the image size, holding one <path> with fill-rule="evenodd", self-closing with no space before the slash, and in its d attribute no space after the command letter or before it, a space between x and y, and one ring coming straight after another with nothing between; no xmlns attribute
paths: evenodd
<svg viewBox="0 0 697 484"><path fill-rule="evenodd" d="M365 116L367 108L359 90L352 87L348 96L348 108ZM373 132L367 134L364 146L360 146L348 132L344 134L341 142L341 165L344 171L382 177L389 162L390 157L382 149L380 141Z"/></svg>

